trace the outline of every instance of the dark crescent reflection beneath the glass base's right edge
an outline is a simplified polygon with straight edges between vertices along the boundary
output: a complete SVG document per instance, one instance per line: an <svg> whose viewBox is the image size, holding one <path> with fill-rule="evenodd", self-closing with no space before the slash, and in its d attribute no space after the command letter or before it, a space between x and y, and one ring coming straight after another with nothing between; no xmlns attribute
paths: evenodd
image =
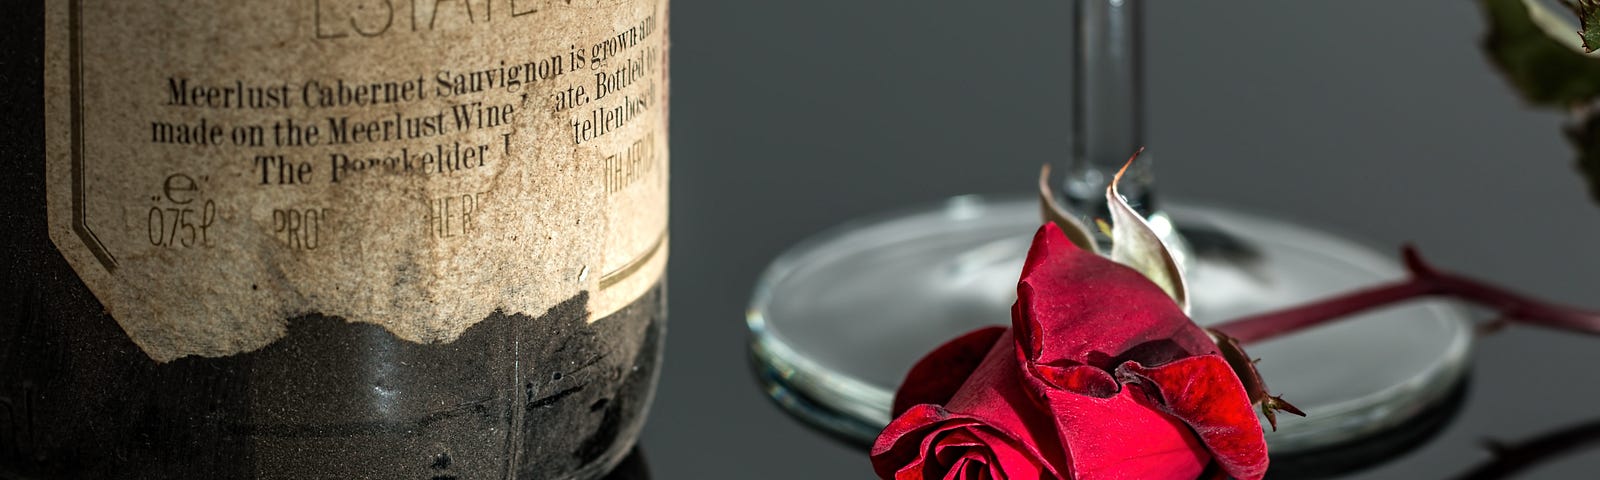
<svg viewBox="0 0 1600 480"><path fill-rule="evenodd" d="M1438 405L1395 429L1315 451L1272 456L1272 466L1267 470L1267 478L1331 478L1376 467L1411 453L1438 435L1438 432L1443 430L1458 413L1461 413L1461 405L1467 397L1467 387L1469 381L1462 379L1461 384L1458 384L1456 389L1451 390L1450 395Z"/></svg>

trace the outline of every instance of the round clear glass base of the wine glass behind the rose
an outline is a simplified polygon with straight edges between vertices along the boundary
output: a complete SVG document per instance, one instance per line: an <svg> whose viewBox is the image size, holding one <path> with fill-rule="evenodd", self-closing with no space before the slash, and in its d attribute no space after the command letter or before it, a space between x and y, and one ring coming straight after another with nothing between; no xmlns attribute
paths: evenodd
<svg viewBox="0 0 1600 480"><path fill-rule="evenodd" d="M955 197L845 224L762 275L750 355L776 403L838 437L872 442L910 365L957 334L1010 325L1038 229L1032 198ZM1194 318L1218 323L1397 280L1392 256L1326 232L1229 210L1163 203L1190 245ZM1274 454L1379 434L1437 406L1472 346L1464 312L1416 301L1250 346L1274 394Z"/></svg>

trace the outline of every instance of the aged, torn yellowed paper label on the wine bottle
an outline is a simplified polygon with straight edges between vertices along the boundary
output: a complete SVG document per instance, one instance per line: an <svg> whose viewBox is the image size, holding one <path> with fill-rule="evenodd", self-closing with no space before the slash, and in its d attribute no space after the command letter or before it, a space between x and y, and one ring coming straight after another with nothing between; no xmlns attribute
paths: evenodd
<svg viewBox="0 0 1600 480"><path fill-rule="evenodd" d="M51 240L158 362L661 280L666 0L46 8Z"/></svg>

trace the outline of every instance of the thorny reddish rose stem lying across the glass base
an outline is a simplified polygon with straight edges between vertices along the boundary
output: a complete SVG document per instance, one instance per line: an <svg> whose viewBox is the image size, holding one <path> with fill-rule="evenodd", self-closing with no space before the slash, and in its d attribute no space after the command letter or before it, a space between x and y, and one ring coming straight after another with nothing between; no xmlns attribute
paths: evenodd
<svg viewBox="0 0 1600 480"><path fill-rule="evenodd" d="M1557 330L1573 330L1600 334L1600 312L1542 302L1485 282L1440 272L1422 261L1416 248L1402 248L1410 278L1358 290L1325 301L1251 315L1213 326L1242 344L1253 344L1280 334L1322 325L1362 310L1395 304L1422 296L1448 296L1494 309L1496 322L1517 322Z"/></svg>

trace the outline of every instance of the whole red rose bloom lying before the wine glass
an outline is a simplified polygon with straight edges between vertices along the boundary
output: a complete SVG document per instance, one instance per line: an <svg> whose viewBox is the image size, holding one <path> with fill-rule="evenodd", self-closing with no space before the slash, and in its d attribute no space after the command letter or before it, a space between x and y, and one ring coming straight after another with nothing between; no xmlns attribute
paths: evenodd
<svg viewBox="0 0 1600 480"><path fill-rule="evenodd" d="M1010 330L907 374L872 448L882 478L1261 478L1267 446L1218 344L1139 272L1034 237Z"/></svg>

